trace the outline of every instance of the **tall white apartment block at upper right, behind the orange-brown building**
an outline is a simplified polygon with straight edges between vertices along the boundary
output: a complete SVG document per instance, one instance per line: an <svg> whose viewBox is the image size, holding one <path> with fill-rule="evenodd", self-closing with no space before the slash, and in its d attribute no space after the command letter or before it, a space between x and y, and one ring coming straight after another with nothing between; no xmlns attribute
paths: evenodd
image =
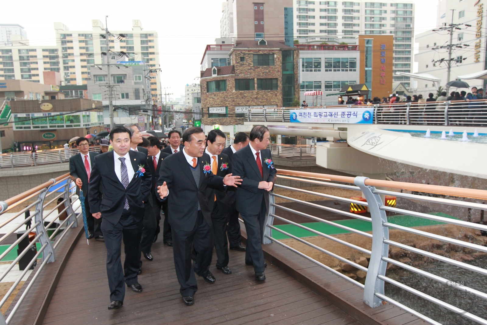
<svg viewBox="0 0 487 325"><path fill-rule="evenodd" d="M294 36L305 44L358 45L358 35L392 34L394 72L412 72L414 7L413 1L295 0ZM410 84L404 76L393 81Z"/></svg>

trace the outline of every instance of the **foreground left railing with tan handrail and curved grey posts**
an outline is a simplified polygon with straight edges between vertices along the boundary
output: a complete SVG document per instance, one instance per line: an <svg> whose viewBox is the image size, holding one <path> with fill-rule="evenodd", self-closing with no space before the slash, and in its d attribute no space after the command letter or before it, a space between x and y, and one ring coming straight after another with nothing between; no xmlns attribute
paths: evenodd
<svg viewBox="0 0 487 325"><path fill-rule="evenodd" d="M65 182L65 184L63 182ZM21 261L24 266L26 264L23 272L17 277L14 284L8 289L3 298L1 298L0 307L5 305L9 300L9 297L26 276L29 269L36 267L37 260L40 258L42 261L40 266L34 269L34 276L30 281L26 281L23 285L24 289L20 297L17 300L14 300L10 305L10 311L7 311L4 315L0 316L0 325L10 323L19 309L19 306L29 293L29 290L36 283L37 277L41 274L42 269L47 263L56 261L56 248L59 243L61 243L69 229L78 226L75 215L76 209L73 208L73 206L76 205L79 207L79 203L76 203L79 198L72 198L74 195L75 185L71 182L69 173L66 173L57 178L50 179L44 184L29 191L20 193L5 201L0 201L0 216L8 215L7 219L0 224L0 233L4 233L0 238L0 244L14 233L17 233L18 237L14 243L9 245L9 247L0 254L0 260L4 259L7 254L13 251L18 245L19 247L24 247L21 252L20 249L18 249L18 256L11 261L8 268L0 275L0 281L9 275L19 261ZM31 202L32 200L34 201ZM25 203L28 203L28 205L18 212L9 212ZM50 208L50 211L46 211L45 209L50 205L54 205L54 207L52 209ZM30 209L34 207L35 211L30 213ZM56 212L53 213L54 211ZM10 213L12 215L9 215ZM22 218L24 214L25 218ZM48 222L46 219L49 219L50 221ZM53 225L55 227L51 227ZM24 226L25 231L22 233L20 229ZM48 230L50 233L48 233ZM36 247L37 243L39 244L38 247ZM35 255L30 259L26 259L25 257L33 254L33 250L36 251ZM40 257L41 254L42 257Z"/></svg>

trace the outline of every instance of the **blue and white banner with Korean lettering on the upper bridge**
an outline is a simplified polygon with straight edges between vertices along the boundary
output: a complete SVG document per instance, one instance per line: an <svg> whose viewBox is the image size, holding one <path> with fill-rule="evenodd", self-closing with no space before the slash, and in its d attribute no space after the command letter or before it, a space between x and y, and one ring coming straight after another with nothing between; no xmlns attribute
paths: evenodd
<svg viewBox="0 0 487 325"><path fill-rule="evenodd" d="M293 123L372 124L374 106L290 110L289 115Z"/></svg>

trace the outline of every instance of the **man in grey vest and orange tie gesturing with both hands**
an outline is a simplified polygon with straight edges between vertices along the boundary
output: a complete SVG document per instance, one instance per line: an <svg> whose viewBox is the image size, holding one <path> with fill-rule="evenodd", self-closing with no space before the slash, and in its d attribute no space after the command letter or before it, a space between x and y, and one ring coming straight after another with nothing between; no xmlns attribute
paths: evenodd
<svg viewBox="0 0 487 325"><path fill-rule="evenodd" d="M194 304L194 293L198 289L194 272L206 282L216 281L208 269L213 253L213 235L206 188L225 191L224 185L240 184L240 177L232 174L220 177L211 172L203 129L187 129L183 142L182 151L163 160L157 185L161 199L168 199L174 265L181 285L179 291L183 302L190 306ZM197 253L194 269L191 265L192 247Z"/></svg>

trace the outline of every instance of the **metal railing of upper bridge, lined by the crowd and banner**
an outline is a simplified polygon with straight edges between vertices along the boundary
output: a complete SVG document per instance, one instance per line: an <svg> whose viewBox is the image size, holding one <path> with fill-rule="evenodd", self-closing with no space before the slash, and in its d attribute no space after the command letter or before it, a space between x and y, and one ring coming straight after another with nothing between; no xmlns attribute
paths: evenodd
<svg viewBox="0 0 487 325"><path fill-rule="evenodd" d="M290 110L317 108L370 107L374 110L374 124L487 126L487 101L449 100L421 103L375 105L332 105L315 107L251 108L249 122L290 122Z"/></svg>

